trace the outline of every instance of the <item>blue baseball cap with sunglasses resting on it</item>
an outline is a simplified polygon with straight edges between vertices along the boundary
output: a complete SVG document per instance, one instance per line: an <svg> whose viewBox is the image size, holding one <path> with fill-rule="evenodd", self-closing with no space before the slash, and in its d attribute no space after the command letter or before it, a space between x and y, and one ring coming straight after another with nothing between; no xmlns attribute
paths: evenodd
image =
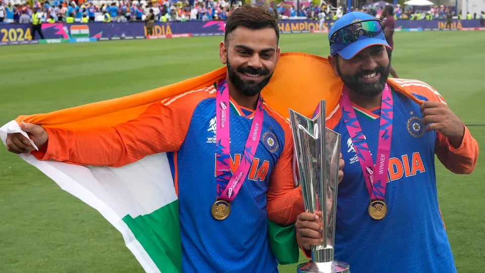
<svg viewBox="0 0 485 273"><path fill-rule="evenodd" d="M367 21L370 22L366 23L366 25L369 25L370 28L372 28L370 31L374 32L365 32L365 34L362 34L364 32L359 32L358 35L354 34L353 38L357 38L355 41L350 42L343 42L342 40L333 37L336 32L347 26ZM338 34L340 33L337 33L336 35ZM334 56L338 54L346 60L352 59L352 57L354 57L361 50L375 44L381 44L391 49L390 45L385 40L383 27L380 20L377 20L372 15L363 12L348 12L336 20L328 31L328 41L330 42L330 55Z"/></svg>

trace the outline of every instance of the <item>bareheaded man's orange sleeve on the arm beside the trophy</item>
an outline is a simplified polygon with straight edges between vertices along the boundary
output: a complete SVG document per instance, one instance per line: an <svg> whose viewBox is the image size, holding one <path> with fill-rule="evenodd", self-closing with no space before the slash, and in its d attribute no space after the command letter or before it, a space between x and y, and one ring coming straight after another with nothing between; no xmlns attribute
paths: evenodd
<svg viewBox="0 0 485 273"><path fill-rule="evenodd" d="M288 121L271 108L268 113L284 129L284 148L269 178L267 196L268 218L282 226L293 224L304 211L300 187L295 188L293 134Z"/></svg>

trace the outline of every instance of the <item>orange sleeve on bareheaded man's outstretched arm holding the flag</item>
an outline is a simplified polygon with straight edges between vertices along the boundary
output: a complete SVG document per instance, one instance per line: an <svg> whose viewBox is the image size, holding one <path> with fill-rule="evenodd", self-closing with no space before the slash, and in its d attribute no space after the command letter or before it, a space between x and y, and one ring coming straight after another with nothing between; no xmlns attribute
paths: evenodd
<svg viewBox="0 0 485 273"><path fill-rule="evenodd" d="M215 94L213 87L187 92L152 104L137 118L112 127L85 130L45 129L45 148L33 151L39 160L76 165L119 167L148 155L176 152L187 133L193 110Z"/></svg>

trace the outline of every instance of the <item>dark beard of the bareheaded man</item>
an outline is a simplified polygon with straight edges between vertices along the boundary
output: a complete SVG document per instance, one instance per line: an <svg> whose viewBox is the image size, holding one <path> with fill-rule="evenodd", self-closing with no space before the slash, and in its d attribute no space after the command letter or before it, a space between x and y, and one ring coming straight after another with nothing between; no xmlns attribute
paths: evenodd
<svg viewBox="0 0 485 273"><path fill-rule="evenodd" d="M260 82L254 80L245 81L239 77L239 75L237 75L236 71L239 73L263 75L265 77ZM229 59L227 59L227 73L229 73L229 81L234 85L234 87L236 87L240 93L248 97L258 95L261 90L263 90L264 86L268 84L271 76L273 75L273 73L269 74L268 70L264 68L254 68L251 66L238 67L236 70L234 70L234 67L231 66Z"/></svg>

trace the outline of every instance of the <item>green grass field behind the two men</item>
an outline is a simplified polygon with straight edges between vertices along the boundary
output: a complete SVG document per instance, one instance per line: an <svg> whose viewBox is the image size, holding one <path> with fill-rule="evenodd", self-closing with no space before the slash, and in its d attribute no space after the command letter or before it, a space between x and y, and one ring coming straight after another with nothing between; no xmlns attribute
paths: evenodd
<svg viewBox="0 0 485 273"><path fill-rule="evenodd" d="M221 66L220 40L2 47L0 125L21 114L139 93L208 72ZM400 77L429 83L465 124L485 124L484 32L399 32L395 44L393 65ZM284 34L280 47L324 57L329 52L326 34ZM485 127L469 129L485 144ZM485 267L483 159L481 154L471 175L453 174L437 161L439 201L459 272ZM281 272L295 268L281 266ZM0 147L0 272L142 271L121 234L97 211Z"/></svg>

